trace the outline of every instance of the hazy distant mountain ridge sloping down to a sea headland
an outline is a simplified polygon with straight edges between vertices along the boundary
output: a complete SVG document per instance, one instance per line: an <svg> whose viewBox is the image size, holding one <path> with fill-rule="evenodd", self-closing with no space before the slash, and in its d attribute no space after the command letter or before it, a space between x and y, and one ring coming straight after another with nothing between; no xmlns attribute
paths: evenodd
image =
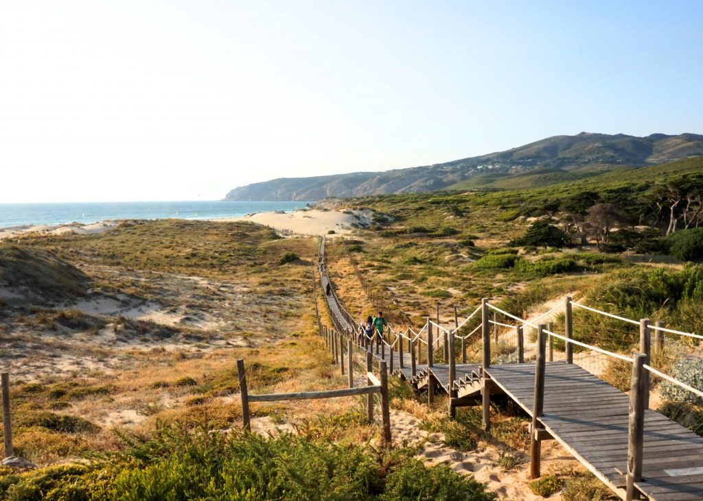
<svg viewBox="0 0 703 501"><path fill-rule="evenodd" d="M430 192L445 188L531 187L588 178L622 166L703 155L703 135L632 135L582 132L556 135L482 156L401 168L311 178L279 178L232 189L225 200L314 201L325 197Z"/></svg>

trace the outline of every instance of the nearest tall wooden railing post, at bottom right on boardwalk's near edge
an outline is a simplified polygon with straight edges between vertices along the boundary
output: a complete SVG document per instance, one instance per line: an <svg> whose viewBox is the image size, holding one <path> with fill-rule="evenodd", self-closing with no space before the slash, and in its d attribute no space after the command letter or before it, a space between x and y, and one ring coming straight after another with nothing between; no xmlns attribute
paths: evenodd
<svg viewBox="0 0 703 501"><path fill-rule="evenodd" d="M644 364L649 356L636 353L632 360L632 378L630 382L630 423L627 450L627 486L626 500L637 499L635 483L642 480L642 457L645 433L645 409L647 391L647 370Z"/></svg>

